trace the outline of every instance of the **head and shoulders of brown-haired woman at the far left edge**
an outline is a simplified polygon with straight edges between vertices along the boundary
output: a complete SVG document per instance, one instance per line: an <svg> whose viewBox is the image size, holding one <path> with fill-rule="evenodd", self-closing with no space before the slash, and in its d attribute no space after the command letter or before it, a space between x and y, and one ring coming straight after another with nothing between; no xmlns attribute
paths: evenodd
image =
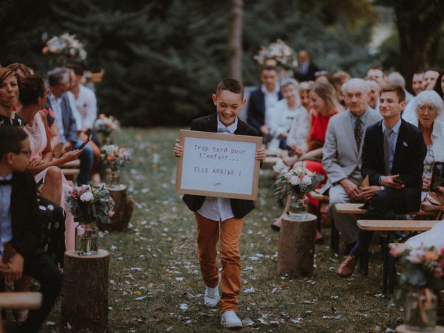
<svg viewBox="0 0 444 333"><path fill-rule="evenodd" d="M8 67L0 67L0 126L25 125L26 121L19 117L15 105L19 100L20 76Z"/></svg>

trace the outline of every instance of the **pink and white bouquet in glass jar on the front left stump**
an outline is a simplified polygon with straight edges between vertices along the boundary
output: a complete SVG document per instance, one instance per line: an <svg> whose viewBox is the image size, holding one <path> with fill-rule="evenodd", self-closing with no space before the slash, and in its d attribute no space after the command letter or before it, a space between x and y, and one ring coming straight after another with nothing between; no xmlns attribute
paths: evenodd
<svg viewBox="0 0 444 333"><path fill-rule="evenodd" d="M69 210L78 222L75 250L79 255L95 255L99 249L97 222L110 223L114 215L114 200L103 187L73 186L67 198Z"/></svg>

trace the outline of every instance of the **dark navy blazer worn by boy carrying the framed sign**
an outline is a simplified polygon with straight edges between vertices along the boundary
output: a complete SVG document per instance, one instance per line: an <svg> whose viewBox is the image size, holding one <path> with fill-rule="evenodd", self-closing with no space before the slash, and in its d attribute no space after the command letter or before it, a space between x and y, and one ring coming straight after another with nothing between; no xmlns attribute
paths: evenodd
<svg viewBox="0 0 444 333"><path fill-rule="evenodd" d="M191 121L191 130L217 133L217 114L214 113L210 116L194 119ZM237 119L237 130L234 131L234 134L259 137L257 130L249 126L247 123L244 123L244 121L241 121L239 118ZM185 194L182 200L185 201L189 210L197 212L200 210L200 207L202 207L205 198L206 196ZM255 204L252 200L230 199L230 204L234 217L237 219L242 219L255 208Z"/></svg>

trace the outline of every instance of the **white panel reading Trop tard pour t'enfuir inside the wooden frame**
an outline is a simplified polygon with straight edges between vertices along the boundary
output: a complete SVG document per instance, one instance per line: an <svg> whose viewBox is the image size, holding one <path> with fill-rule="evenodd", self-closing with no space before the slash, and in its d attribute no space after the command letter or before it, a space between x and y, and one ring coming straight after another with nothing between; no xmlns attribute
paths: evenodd
<svg viewBox="0 0 444 333"><path fill-rule="evenodd" d="M253 194L256 142L186 136L183 146L181 189Z"/></svg>

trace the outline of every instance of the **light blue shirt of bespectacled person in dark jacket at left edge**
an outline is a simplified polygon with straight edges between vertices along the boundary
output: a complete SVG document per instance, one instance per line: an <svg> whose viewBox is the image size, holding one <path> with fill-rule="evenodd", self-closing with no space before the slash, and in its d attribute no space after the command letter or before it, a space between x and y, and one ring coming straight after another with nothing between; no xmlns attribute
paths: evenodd
<svg viewBox="0 0 444 333"><path fill-rule="evenodd" d="M12 173L0 180L11 180ZM0 255L3 255L3 246L12 239L11 227L11 185L0 185Z"/></svg>

